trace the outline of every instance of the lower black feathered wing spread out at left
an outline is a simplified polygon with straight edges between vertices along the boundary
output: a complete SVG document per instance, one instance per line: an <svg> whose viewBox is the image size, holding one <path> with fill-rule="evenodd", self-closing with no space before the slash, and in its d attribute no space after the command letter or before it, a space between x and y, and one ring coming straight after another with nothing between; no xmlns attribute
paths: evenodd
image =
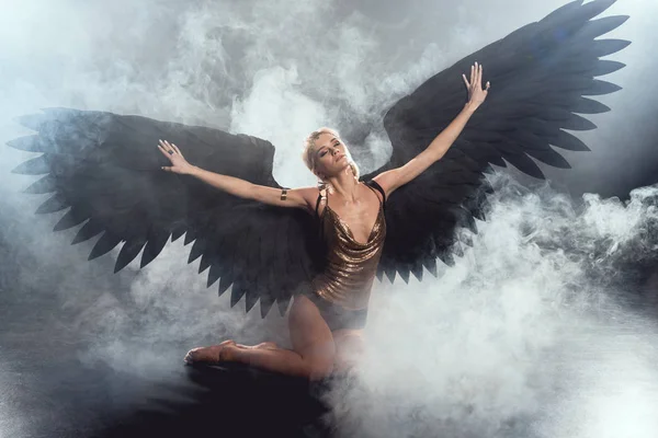
<svg viewBox="0 0 658 438"><path fill-rule="evenodd" d="M144 267L170 238L185 234L185 244L194 242L189 263L201 257L200 273L209 268L208 287L219 279L222 295L232 285L231 306L246 296L247 311L260 299L263 316L274 302L283 314L292 295L311 278L310 215L162 172L169 163L156 147L158 139L167 139L206 170L280 187L272 176L270 142L206 127L65 108L45 110L21 123L37 134L9 146L43 154L14 172L46 174L26 189L54 194L37 212L70 207L55 230L87 221L73 243L103 233L90 260L123 243L115 272L140 252Z"/></svg>

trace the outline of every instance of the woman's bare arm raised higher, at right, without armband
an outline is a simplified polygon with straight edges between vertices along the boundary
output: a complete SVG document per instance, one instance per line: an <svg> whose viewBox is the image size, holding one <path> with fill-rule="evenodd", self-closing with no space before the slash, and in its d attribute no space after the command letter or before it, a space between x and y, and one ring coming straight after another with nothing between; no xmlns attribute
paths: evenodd
<svg viewBox="0 0 658 438"><path fill-rule="evenodd" d="M468 102L464 105L464 110L452 120L445 129L441 131L426 150L420 152L405 165L392 169L375 176L374 180L386 191L386 195L390 195L396 188L407 184L416 176L420 175L435 161L441 160L447 149L455 142L466 123L478 108L478 106L487 97L489 82L486 90L483 90L483 66L470 67L470 82L463 76L466 88L468 89Z"/></svg>

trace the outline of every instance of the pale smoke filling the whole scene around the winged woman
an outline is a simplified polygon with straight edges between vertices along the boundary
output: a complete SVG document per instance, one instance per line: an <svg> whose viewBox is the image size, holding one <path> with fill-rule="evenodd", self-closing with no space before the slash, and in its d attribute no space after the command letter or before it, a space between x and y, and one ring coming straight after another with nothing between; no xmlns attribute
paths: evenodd
<svg viewBox="0 0 658 438"><path fill-rule="evenodd" d="M302 140L331 126L366 173L390 151L381 126L388 105L561 4L2 2L0 142L30 134L12 118L39 107L139 114L266 138L276 146L277 182L299 186L315 184ZM593 152L566 153L574 170L547 171L572 193L608 187L651 161L643 129L654 60L645 54L656 12L648 0L610 11L632 15L613 35L633 39L614 58L629 67L606 78L625 90L602 99L614 111L597 117L599 130L579 134ZM231 309L228 293L205 288L198 261L185 265L181 241L144 269L112 275L117 251L88 263L95 239L70 246L77 229L52 233L65 211L35 217L45 196L20 193L34 177L10 174L33 157L4 148L0 159L0 292L7 309L42 309L11 316L12 331L44 339L43 354L154 378L179 367L188 348L227 337L287 345L285 319L243 315L243 302ZM655 242L645 239L655 229L653 189L627 205L590 196L580 210L548 188L530 194L504 180L498 188L473 249L439 280L376 286L363 373L332 394L343 435L656 430L647 411L655 328L620 304L633 292L620 267L654 250L643 246Z"/></svg>

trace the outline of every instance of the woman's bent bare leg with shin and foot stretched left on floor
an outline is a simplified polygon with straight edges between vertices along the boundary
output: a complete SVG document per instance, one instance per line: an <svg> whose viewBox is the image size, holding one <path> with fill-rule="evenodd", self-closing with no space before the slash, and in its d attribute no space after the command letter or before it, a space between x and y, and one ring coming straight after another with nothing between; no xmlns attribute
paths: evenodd
<svg viewBox="0 0 658 438"><path fill-rule="evenodd" d="M318 308L304 296L295 297L288 315L293 349L245 348L232 341L195 348L185 357L190 362L240 362L290 376L319 379L333 369L336 346L331 331Z"/></svg>

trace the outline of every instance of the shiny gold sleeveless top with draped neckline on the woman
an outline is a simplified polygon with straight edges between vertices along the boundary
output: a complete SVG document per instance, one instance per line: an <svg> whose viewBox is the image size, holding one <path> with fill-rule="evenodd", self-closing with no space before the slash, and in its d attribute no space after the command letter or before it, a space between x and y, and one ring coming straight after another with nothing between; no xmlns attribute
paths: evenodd
<svg viewBox="0 0 658 438"><path fill-rule="evenodd" d="M329 207L329 203L326 203L319 219L327 253L325 268L313 281L315 292L345 309L365 309L386 238L382 201L365 243L354 240L348 224Z"/></svg>

